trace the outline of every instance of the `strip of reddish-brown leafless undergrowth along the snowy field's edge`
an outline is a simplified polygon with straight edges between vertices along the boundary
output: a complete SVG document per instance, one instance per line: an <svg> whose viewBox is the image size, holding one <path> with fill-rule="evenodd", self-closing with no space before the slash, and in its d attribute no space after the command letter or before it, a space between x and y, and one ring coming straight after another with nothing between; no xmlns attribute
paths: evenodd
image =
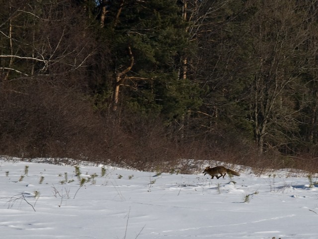
<svg viewBox="0 0 318 239"><path fill-rule="evenodd" d="M180 136L159 117L100 114L80 89L50 80L2 84L0 105L1 155L68 157L160 172L198 172L209 161L259 173L280 168L318 172L311 155L259 154L253 142L221 131Z"/></svg>

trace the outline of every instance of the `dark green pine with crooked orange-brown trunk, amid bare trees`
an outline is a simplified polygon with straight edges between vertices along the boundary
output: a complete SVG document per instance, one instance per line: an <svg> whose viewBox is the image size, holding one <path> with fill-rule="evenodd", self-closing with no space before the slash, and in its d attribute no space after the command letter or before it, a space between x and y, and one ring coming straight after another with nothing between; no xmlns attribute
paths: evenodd
<svg viewBox="0 0 318 239"><path fill-rule="evenodd" d="M186 79L179 79L186 24L173 0L113 1L103 16L112 52L112 108L177 118L196 105ZM173 105L173 107L172 107Z"/></svg>

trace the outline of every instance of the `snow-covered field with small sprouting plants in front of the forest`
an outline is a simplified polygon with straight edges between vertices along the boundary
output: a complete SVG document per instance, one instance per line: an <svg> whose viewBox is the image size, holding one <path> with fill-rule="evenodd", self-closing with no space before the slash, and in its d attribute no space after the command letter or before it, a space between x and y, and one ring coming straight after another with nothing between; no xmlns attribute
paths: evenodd
<svg viewBox="0 0 318 239"><path fill-rule="evenodd" d="M105 169L79 165L78 177L74 166L0 157L0 238L318 238L318 187L306 174L245 170L234 183Z"/></svg>

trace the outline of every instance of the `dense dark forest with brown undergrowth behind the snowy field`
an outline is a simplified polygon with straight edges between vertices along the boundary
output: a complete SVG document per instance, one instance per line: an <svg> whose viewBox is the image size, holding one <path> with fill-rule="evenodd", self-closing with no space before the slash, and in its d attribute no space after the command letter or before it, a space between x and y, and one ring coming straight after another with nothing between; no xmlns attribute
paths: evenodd
<svg viewBox="0 0 318 239"><path fill-rule="evenodd" d="M318 170L318 0L0 1L1 155Z"/></svg>

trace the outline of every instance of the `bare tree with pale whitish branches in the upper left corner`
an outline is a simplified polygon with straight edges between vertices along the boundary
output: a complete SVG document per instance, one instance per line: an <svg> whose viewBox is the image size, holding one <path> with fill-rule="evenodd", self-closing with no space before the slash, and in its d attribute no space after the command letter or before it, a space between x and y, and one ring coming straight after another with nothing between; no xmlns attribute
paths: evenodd
<svg viewBox="0 0 318 239"><path fill-rule="evenodd" d="M10 0L1 15L2 79L61 74L87 66L94 54L86 19L71 1Z"/></svg>

